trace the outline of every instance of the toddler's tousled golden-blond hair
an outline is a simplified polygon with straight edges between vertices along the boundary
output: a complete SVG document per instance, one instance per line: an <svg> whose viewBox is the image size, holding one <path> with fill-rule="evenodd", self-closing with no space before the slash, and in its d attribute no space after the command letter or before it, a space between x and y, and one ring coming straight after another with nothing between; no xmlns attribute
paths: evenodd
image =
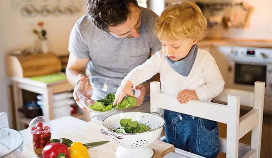
<svg viewBox="0 0 272 158"><path fill-rule="evenodd" d="M201 40L207 31L207 20L194 2L179 2L168 6L156 22L155 34L160 40L183 38Z"/></svg>

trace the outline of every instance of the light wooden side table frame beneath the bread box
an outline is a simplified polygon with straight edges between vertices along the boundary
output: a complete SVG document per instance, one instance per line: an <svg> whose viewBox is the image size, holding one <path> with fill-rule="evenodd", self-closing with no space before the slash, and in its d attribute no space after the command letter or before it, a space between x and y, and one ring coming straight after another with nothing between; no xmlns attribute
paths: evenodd
<svg viewBox="0 0 272 158"><path fill-rule="evenodd" d="M31 119L20 116L18 109L23 106L22 90L28 90L44 95L43 114L45 118L54 119L53 114L53 94L74 90L68 80L52 83L43 83L28 78L11 78L13 81L14 110L16 118L16 129L22 130L29 124ZM74 115L76 118L90 121L89 112Z"/></svg>

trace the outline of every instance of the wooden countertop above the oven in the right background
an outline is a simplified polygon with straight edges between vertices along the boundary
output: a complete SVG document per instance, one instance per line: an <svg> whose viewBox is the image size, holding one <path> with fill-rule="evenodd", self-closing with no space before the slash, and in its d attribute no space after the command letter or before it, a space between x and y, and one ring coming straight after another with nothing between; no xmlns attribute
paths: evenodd
<svg viewBox="0 0 272 158"><path fill-rule="evenodd" d="M199 47L210 46L243 46L272 48L272 40L246 40L246 39L203 39L197 42Z"/></svg>

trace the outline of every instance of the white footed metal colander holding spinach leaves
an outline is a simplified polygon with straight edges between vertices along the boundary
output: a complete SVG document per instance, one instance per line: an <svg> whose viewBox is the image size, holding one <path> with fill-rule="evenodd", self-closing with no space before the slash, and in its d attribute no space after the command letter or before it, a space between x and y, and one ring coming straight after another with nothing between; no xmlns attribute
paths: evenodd
<svg viewBox="0 0 272 158"><path fill-rule="evenodd" d="M154 152L149 145L158 139L164 126L162 115L155 114L159 113L119 113L103 120L104 129L101 129L101 133L108 135L110 141L119 145L115 151L116 158L151 158L153 156ZM136 134L114 132L113 129L121 127L120 119L122 118L132 118L132 121L145 124L148 131Z"/></svg>

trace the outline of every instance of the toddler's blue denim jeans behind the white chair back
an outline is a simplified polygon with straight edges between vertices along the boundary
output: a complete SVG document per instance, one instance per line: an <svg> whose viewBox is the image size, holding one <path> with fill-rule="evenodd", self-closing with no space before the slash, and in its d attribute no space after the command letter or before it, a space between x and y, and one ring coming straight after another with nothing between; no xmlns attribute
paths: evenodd
<svg viewBox="0 0 272 158"><path fill-rule="evenodd" d="M165 110L166 142L176 148L216 158L219 153L218 125L216 121Z"/></svg>

